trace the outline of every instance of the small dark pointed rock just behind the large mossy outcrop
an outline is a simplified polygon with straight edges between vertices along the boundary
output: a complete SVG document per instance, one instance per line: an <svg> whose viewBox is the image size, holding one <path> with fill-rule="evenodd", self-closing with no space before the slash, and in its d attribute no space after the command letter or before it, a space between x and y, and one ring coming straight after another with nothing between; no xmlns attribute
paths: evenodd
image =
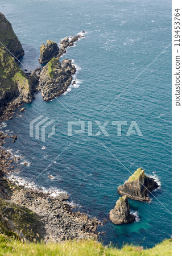
<svg viewBox="0 0 182 256"><path fill-rule="evenodd" d="M42 46L40 46L39 62L41 64L48 63L49 60L57 56L58 52L59 47L57 46L57 44L55 42L52 42L51 40L47 40L46 46L45 44L42 44Z"/></svg>

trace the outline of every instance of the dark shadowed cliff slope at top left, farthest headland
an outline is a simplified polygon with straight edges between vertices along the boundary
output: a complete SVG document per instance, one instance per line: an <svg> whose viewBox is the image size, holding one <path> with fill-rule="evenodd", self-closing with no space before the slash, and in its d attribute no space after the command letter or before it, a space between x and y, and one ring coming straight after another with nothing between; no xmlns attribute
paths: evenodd
<svg viewBox="0 0 182 256"><path fill-rule="evenodd" d="M11 23L0 13L0 42L5 46L16 58L24 55L22 44L15 35ZM0 46L2 44L0 43Z"/></svg>

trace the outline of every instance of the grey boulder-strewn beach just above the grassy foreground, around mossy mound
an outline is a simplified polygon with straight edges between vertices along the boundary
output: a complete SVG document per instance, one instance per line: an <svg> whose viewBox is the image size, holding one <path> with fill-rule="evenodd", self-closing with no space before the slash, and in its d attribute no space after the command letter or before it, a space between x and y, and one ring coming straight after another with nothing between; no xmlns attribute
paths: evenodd
<svg viewBox="0 0 182 256"><path fill-rule="evenodd" d="M15 135L1 132L1 143L6 143L7 138L17 139ZM89 218L86 213L75 212L74 207L69 205L67 193L52 196L49 192L43 192L41 188L32 189L20 185L18 179L10 180L9 174L20 171L19 168L15 169L15 166L19 165L19 160L0 146L0 199L8 205L14 204L18 207L25 207L36 213L40 225L38 234L45 242L60 242L73 238L97 238L97 227L103 224L96 218ZM19 178L19 180L21 179ZM1 204L2 201L0 207ZM7 224L12 222L12 225L6 225L6 229L9 232L14 229L17 231L16 224L9 217L9 208L4 207L3 210L0 223L4 220ZM18 230L18 234L20 233L22 237L26 238L23 231Z"/></svg>

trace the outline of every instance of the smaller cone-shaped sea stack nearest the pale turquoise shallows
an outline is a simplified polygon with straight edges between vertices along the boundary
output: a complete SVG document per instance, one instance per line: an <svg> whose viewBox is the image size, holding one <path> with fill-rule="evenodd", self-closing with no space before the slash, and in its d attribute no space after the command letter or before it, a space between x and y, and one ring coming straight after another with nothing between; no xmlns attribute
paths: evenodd
<svg viewBox="0 0 182 256"><path fill-rule="evenodd" d="M116 225L127 224L135 221L135 216L130 214L130 205L127 196L119 197L114 209L110 210L109 218Z"/></svg>

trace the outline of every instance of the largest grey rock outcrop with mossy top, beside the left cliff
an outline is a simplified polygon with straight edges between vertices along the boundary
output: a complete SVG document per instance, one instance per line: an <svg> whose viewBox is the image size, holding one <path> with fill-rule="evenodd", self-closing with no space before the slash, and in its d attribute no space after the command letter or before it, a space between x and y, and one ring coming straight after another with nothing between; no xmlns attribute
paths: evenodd
<svg viewBox="0 0 182 256"><path fill-rule="evenodd" d="M50 60L40 73L39 79L44 101L52 100L63 94L71 84L72 74L75 72L76 68L71 64L71 60L63 61L62 66L58 58Z"/></svg>

